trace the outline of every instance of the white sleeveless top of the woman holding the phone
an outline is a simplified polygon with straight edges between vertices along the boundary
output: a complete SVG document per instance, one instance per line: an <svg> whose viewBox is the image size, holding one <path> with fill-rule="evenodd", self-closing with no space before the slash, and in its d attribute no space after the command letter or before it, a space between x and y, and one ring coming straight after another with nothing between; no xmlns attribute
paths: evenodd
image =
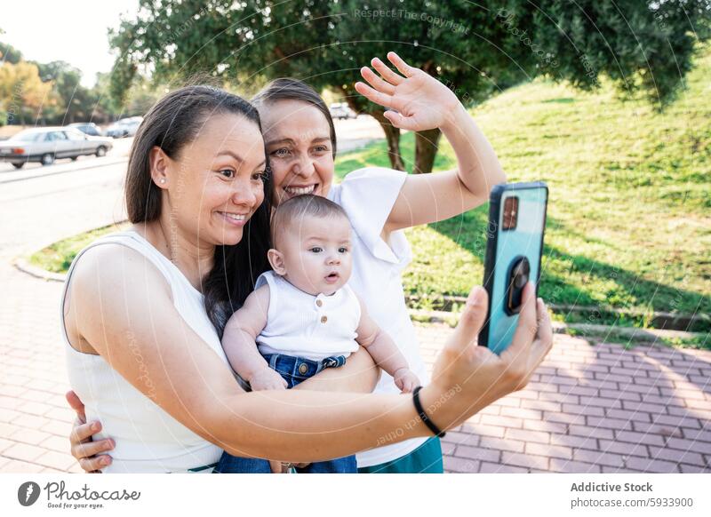
<svg viewBox="0 0 711 517"><path fill-rule="evenodd" d="M100 420L103 427L102 432L96 435L97 439L110 437L116 441L116 449L109 453L113 462L103 472L180 473L212 465L219 461L222 449L172 418L121 377L103 357L78 352L69 344L64 325L64 301L69 279L84 251L105 244L111 244L116 253L121 253L122 247L138 251L156 266L171 286L173 303L180 316L220 359L228 362L217 332L205 312L202 293L141 235L134 231L107 235L80 251L69 268L64 284L60 307L61 333L67 349L69 384L84 402L87 421ZM140 282L140 278L135 281ZM196 346L203 344L196 343ZM127 349L125 353L132 354L132 351ZM138 355L137 361L140 361ZM207 468L200 472L211 471Z"/></svg>

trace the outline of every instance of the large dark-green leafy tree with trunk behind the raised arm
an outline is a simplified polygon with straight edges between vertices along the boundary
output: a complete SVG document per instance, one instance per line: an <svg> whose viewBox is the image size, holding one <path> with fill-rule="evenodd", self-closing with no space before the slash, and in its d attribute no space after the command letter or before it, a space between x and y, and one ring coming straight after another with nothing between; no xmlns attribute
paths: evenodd
<svg viewBox="0 0 711 517"><path fill-rule="evenodd" d="M140 66L167 84L196 71L232 84L297 76L375 116L393 167L403 169L399 130L353 89L371 57L395 50L466 105L536 76L581 89L608 76L662 107L709 37L709 1L141 0L136 20L123 20L112 36L115 92L127 91ZM431 171L439 139L438 130L416 134L415 171Z"/></svg>

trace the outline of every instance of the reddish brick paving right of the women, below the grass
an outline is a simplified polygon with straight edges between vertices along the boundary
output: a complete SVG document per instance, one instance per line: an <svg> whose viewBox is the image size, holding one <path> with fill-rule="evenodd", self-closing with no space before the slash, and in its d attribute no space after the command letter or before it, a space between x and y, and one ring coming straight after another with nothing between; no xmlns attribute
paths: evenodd
<svg viewBox="0 0 711 517"><path fill-rule="evenodd" d="M444 328L445 329L445 328ZM431 362L443 327L422 327ZM711 473L711 352L556 336L521 392L444 438L450 472Z"/></svg>

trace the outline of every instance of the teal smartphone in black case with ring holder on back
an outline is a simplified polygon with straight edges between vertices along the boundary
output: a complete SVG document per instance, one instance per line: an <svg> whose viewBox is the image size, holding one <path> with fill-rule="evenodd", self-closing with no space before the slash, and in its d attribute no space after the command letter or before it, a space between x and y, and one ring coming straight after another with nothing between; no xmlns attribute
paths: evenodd
<svg viewBox="0 0 711 517"><path fill-rule="evenodd" d="M514 338L523 287L529 280L538 296L547 203L548 187L542 181L491 189L483 273L489 310L479 345L495 354L506 350Z"/></svg>

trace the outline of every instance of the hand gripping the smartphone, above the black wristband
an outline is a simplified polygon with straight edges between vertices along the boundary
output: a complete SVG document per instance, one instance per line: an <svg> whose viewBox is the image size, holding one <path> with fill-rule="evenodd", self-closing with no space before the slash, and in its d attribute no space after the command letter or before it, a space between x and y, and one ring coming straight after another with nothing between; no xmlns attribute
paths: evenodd
<svg viewBox="0 0 711 517"><path fill-rule="evenodd" d="M500 355L479 346L487 317L486 290L476 287L467 299L459 325L437 357L432 384L422 390L428 416L442 429L459 426L499 398L523 389L553 346L553 328L543 300L531 282L523 289L523 306L511 345Z"/></svg>

